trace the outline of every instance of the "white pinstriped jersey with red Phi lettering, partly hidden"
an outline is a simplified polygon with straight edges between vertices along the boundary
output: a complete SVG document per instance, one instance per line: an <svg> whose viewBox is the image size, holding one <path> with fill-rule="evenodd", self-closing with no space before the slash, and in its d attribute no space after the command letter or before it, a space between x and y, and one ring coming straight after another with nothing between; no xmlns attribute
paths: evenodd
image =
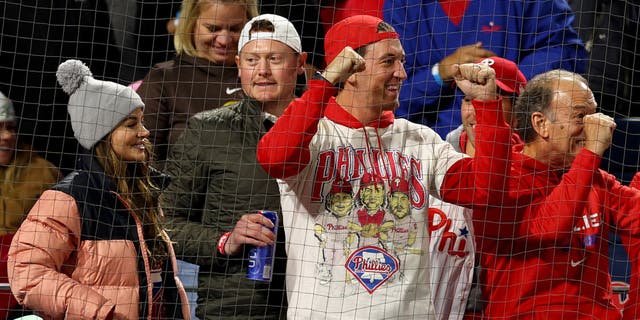
<svg viewBox="0 0 640 320"><path fill-rule="evenodd" d="M473 280L472 210L433 199L429 205L431 295L437 319L462 319Z"/></svg>

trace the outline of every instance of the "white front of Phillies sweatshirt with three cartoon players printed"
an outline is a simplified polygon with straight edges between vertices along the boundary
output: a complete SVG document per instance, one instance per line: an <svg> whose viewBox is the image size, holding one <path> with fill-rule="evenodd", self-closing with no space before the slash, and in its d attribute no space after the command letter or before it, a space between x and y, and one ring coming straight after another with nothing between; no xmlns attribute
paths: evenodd
<svg viewBox="0 0 640 320"><path fill-rule="evenodd" d="M309 149L310 163L279 180L288 318L435 319L429 194L439 194L444 174L465 155L431 129L404 119L385 128L350 128L322 118ZM364 193L367 173L384 181L384 192ZM334 222L319 216L330 214L325 202L336 179L353 189L354 206L345 219L353 223L348 231L341 223L333 228L341 234L330 236L324 232L331 232L326 226ZM394 179L406 179L411 186L408 217L395 218L388 205ZM367 208L376 200L379 206ZM342 243L327 243L331 239Z"/></svg>

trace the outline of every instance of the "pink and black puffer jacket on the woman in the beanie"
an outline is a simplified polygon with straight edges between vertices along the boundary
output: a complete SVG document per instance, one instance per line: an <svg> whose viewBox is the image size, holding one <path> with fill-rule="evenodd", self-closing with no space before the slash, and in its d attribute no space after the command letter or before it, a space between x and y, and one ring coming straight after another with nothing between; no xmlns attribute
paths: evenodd
<svg viewBox="0 0 640 320"><path fill-rule="evenodd" d="M12 292L45 319L151 319L154 288L142 221L97 160L80 158L76 171L42 194L13 238ZM189 319L173 247L165 245L166 315Z"/></svg>

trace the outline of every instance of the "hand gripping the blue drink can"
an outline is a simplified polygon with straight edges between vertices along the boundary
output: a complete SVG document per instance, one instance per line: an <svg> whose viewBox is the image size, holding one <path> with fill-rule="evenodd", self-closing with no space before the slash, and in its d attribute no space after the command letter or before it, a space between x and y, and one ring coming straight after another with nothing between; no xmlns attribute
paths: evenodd
<svg viewBox="0 0 640 320"><path fill-rule="evenodd" d="M259 213L248 213L240 217L233 228L224 251L227 255L236 255L242 251L245 244L264 247L276 241L271 232L273 222Z"/></svg>

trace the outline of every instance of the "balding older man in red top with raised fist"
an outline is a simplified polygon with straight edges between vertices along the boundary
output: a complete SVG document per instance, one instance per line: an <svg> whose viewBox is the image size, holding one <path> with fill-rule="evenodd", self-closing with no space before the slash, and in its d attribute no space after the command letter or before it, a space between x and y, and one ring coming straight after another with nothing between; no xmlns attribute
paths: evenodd
<svg viewBox="0 0 640 320"><path fill-rule="evenodd" d="M598 169L615 122L586 80L554 70L518 98L510 194L474 212L489 319L621 319L611 231L640 236L640 192Z"/></svg>

